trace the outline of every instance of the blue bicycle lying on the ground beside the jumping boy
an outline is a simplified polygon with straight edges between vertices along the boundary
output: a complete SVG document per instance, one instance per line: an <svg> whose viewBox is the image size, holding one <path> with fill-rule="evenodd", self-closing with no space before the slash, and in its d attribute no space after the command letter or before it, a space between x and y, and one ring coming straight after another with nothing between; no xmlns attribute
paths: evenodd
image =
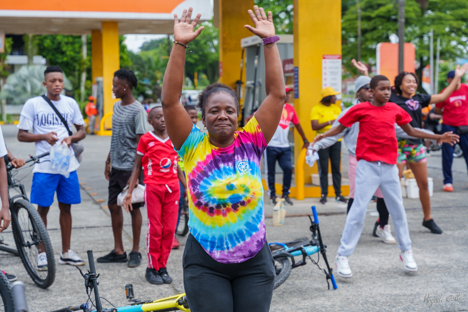
<svg viewBox="0 0 468 312"><path fill-rule="evenodd" d="M333 269L330 268L326 249L327 245L323 244L322 235L320 234L320 227L319 227L319 218L317 215L317 210L315 206L312 206L312 214L314 216L314 221L312 218L310 219L310 232L312 232L312 238L301 238L291 240L285 243L270 243L271 254L273 255L273 260L275 261L275 271L276 271L276 278L275 278L275 288L277 289L282 283L284 283L289 275L291 274L291 269L298 268L300 266L306 265L306 258L309 258L312 263L314 263L323 273L325 273L328 289L330 289L330 284L328 280L331 280L333 285L333 289L338 288L336 286L335 277L333 276ZM317 258L317 261L311 258L312 254L318 253L322 254L323 261L327 266L327 270L321 268L318 264L320 260L320 254ZM302 259L298 262L295 261L294 257L302 256Z"/></svg>

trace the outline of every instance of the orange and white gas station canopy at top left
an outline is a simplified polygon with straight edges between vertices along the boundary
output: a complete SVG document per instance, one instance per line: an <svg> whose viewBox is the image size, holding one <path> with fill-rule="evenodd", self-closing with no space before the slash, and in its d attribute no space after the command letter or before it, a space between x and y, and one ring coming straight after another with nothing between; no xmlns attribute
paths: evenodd
<svg viewBox="0 0 468 312"><path fill-rule="evenodd" d="M91 34L101 22L118 22L123 34L172 34L174 13L193 7L201 20L213 16L210 0L0 1L0 31L6 34Z"/></svg>

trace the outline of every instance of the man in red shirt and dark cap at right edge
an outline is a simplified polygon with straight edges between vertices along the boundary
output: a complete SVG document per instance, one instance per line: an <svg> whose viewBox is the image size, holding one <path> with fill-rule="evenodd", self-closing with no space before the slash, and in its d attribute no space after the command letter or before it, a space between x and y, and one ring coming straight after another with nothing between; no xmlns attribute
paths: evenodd
<svg viewBox="0 0 468 312"><path fill-rule="evenodd" d="M452 82L453 77L455 77L455 71L447 73L447 82ZM437 103L434 111L442 115L442 132L453 131L453 133L460 134L459 145L468 167L468 86L459 80L455 91L444 102ZM442 145L442 169L446 192L453 192L452 162L453 146L444 143Z"/></svg>

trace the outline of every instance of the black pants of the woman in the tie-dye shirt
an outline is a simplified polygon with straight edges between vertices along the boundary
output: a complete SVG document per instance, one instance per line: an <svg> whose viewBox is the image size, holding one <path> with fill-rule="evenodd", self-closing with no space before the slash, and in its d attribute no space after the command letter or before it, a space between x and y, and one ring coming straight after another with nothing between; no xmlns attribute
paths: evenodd
<svg viewBox="0 0 468 312"><path fill-rule="evenodd" d="M183 287L192 312L268 312L275 284L270 247L235 264L214 260L189 234L182 258Z"/></svg>

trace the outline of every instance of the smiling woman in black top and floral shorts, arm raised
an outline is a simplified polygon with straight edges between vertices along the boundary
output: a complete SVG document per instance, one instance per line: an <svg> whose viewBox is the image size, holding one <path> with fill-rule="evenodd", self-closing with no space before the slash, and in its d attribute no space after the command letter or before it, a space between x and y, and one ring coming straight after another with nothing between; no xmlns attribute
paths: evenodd
<svg viewBox="0 0 468 312"><path fill-rule="evenodd" d="M446 87L442 93L433 95L415 94L418 85L416 74L401 72L395 77L395 93L392 93L389 102L398 104L402 109L408 112L409 116L413 118L410 124L414 128L422 128L423 116L421 109L432 103L444 102L455 90L458 81L467 69L467 64L462 67L458 65L455 70L455 78L450 85ZM427 164L422 143L422 139L419 138L398 138L397 166L400 171L400 177L402 176L405 165L413 172L417 186L419 187L419 199L423 206L423 225L430 229L432 233L440 234L442 230L435 224L431 217L431 199L427 186Z"/></svg>

